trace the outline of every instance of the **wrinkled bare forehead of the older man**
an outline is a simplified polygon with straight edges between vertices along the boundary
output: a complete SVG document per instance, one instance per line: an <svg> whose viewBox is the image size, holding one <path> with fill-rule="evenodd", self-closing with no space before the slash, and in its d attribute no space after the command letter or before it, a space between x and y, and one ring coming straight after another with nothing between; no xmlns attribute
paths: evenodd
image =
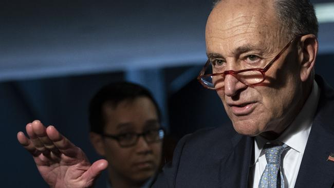
<svg viewBox="0 0 334 188"><path fill-rule="evenodd" d="M207 51L217 47L280 43L282 33L270 1L221 1L208 18Z"/></svg>

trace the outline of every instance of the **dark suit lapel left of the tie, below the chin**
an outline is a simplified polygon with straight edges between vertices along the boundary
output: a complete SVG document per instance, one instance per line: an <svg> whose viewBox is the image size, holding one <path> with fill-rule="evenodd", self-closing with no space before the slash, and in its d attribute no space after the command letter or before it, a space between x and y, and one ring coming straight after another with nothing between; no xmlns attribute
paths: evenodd
<svg viewBox="0 0 334 188"><path fill-rule="evenodd" d="M234 148L220 160L219 184L221 187L247 187L253 138L235 135L231 141Z"/></svg>

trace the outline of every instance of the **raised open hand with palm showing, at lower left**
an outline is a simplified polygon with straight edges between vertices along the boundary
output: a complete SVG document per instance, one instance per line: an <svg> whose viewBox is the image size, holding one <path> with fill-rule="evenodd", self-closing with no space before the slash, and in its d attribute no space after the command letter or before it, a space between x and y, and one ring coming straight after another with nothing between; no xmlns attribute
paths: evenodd
<svg viewBox="0 0 334 188"><path fill-rule="evenodd" d="M98 175L107 167L104 159L90 164L85 153L53 126L38 120L28 123L17 140L31 153L39 172L50 187L92 187Z"/></svg>

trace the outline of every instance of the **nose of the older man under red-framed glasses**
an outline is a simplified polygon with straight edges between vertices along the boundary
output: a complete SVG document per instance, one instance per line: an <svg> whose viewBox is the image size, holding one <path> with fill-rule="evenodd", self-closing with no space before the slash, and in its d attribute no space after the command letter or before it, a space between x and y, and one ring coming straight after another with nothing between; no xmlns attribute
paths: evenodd
<svg viewBox="0 0 334 188"><path fill-rule="evenodd" d="M231 74L227 74L224 80L224 92L228 97L233 97L240 92L240 90L247 88L247 85L240 82Z"/></svg>

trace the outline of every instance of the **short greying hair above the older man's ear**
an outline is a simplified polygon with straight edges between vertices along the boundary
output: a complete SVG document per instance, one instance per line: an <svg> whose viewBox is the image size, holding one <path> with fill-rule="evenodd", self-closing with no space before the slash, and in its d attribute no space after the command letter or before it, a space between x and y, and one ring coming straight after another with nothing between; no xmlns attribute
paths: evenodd
<svg viewBox="0 0 334 188"><path fill-rule="evenodd" d="M215 1L214 7L220 1ZM318 35L317 16L309 0L274 0L273 7L288 40L297 34Z"/></svg>

